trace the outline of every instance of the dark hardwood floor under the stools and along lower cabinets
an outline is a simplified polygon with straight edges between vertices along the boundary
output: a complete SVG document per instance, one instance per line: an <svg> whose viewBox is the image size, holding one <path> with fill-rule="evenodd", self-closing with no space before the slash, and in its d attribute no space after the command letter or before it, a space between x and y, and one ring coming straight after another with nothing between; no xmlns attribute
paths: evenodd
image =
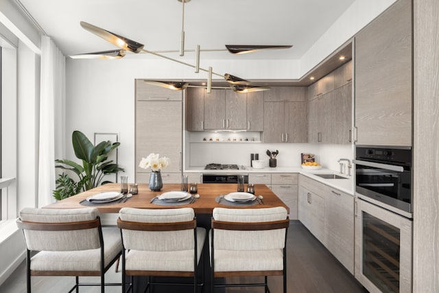
<svg viewBox="0 0 439 293"><path fill-rule="evenodd" d="M289 293L355 293L366 292L353 275L309 233L298 221L292 221L287 238L287 288ZM106 281L120 282L120 270L115 273L110 268ZM80 281L98 281L96 277L80 278ZM228 279L235 282L242 279ZM252 281L247 278L245 281ZM256 281L261 281L258 279ZM67 292L73 286L74 277L32 277L33 293ZM282 277L269 277L272 293L282 292ZM12 276L0 285L1 293L25 293L25 263L15 270ZM100 292L97 287L80 288L80 292ZM121 292L120 287L106 287L106 292ZM227 292L263 292L263 288L228 288Z"/></svg>

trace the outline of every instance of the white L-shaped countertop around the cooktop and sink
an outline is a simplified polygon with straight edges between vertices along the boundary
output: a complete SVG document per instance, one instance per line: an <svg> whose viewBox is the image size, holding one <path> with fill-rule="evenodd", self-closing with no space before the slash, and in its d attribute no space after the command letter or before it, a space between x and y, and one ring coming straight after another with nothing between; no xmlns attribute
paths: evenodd
<svg viewBox="0 0 439 293"><path fill-rule="evenodd" d="M241 167L241 166L239 166ZM317 180L320 183L333 187L340 191L354 196L353 176L346 176L346 174L339 174L331 169L320 170L307 170L302 167L264 167L262 169L256 169L252 167L244 166L245 169L238 170L205 170L204 167L189 167L185 169L185 172L191 173L205 173L205 174L248 174L248 173L298 173L308 176L313 180ZM337 174L345 177L346 179L325 179L314 174Z"/></svg>

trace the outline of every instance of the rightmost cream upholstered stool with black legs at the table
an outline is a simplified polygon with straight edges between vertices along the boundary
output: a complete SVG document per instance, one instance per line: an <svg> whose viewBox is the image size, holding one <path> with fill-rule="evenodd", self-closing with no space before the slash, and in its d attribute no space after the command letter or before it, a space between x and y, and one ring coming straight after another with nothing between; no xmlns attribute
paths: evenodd
<svg viewBox="0 0 439 293"><path fill-rule="evenodd" d="M287 292L286 239L289 219L284 207L266 209L213 209L211 292L218 287L263 286L267 276L283 275ZM263 276L264 283L217 284L217 277Z"/></svg>

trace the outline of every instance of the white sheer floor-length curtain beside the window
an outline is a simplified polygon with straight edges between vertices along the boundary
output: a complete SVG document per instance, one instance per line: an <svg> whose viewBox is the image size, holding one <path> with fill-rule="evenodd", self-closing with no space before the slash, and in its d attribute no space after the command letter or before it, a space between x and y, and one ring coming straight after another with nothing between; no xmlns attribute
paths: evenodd
<svg viewBox="0 0 439 293"><path fill-rule="evenodd" d="M63 158L65 57L48 36L41 37L38 207L54 201L55 159Z"/></svg>

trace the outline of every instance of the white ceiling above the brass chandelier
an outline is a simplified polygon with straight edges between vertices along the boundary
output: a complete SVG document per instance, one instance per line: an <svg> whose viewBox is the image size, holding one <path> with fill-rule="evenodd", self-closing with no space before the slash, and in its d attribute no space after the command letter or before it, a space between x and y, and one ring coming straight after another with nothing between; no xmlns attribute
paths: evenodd
<svg viewBox="0 0 439 293"><path fill-rule="evenodd" d="M178 0L20 1L67 56L115 49L82 29L80 21L143 43L150 51L178 50L180 46L182 3ZM191 0L185 3L185 48L294 45L240 56L203 52L202 58L298 59L354 1Z"/></svg>

